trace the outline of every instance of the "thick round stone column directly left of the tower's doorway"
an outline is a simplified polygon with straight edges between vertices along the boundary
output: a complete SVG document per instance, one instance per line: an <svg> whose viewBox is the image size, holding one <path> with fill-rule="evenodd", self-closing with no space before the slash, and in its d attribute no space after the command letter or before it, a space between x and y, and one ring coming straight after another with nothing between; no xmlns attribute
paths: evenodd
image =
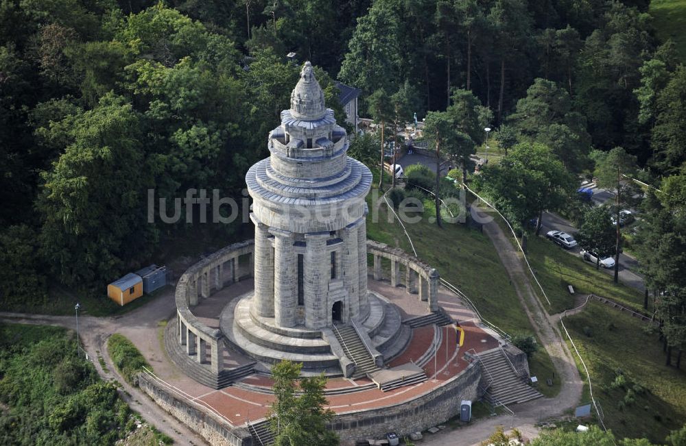
<svg viewBox="0 0 686 446"><path fill-rule="evenodd" d="M327 295L330 264L327 259L328 232L305 234L305 327L327 326Z"/></svg>

